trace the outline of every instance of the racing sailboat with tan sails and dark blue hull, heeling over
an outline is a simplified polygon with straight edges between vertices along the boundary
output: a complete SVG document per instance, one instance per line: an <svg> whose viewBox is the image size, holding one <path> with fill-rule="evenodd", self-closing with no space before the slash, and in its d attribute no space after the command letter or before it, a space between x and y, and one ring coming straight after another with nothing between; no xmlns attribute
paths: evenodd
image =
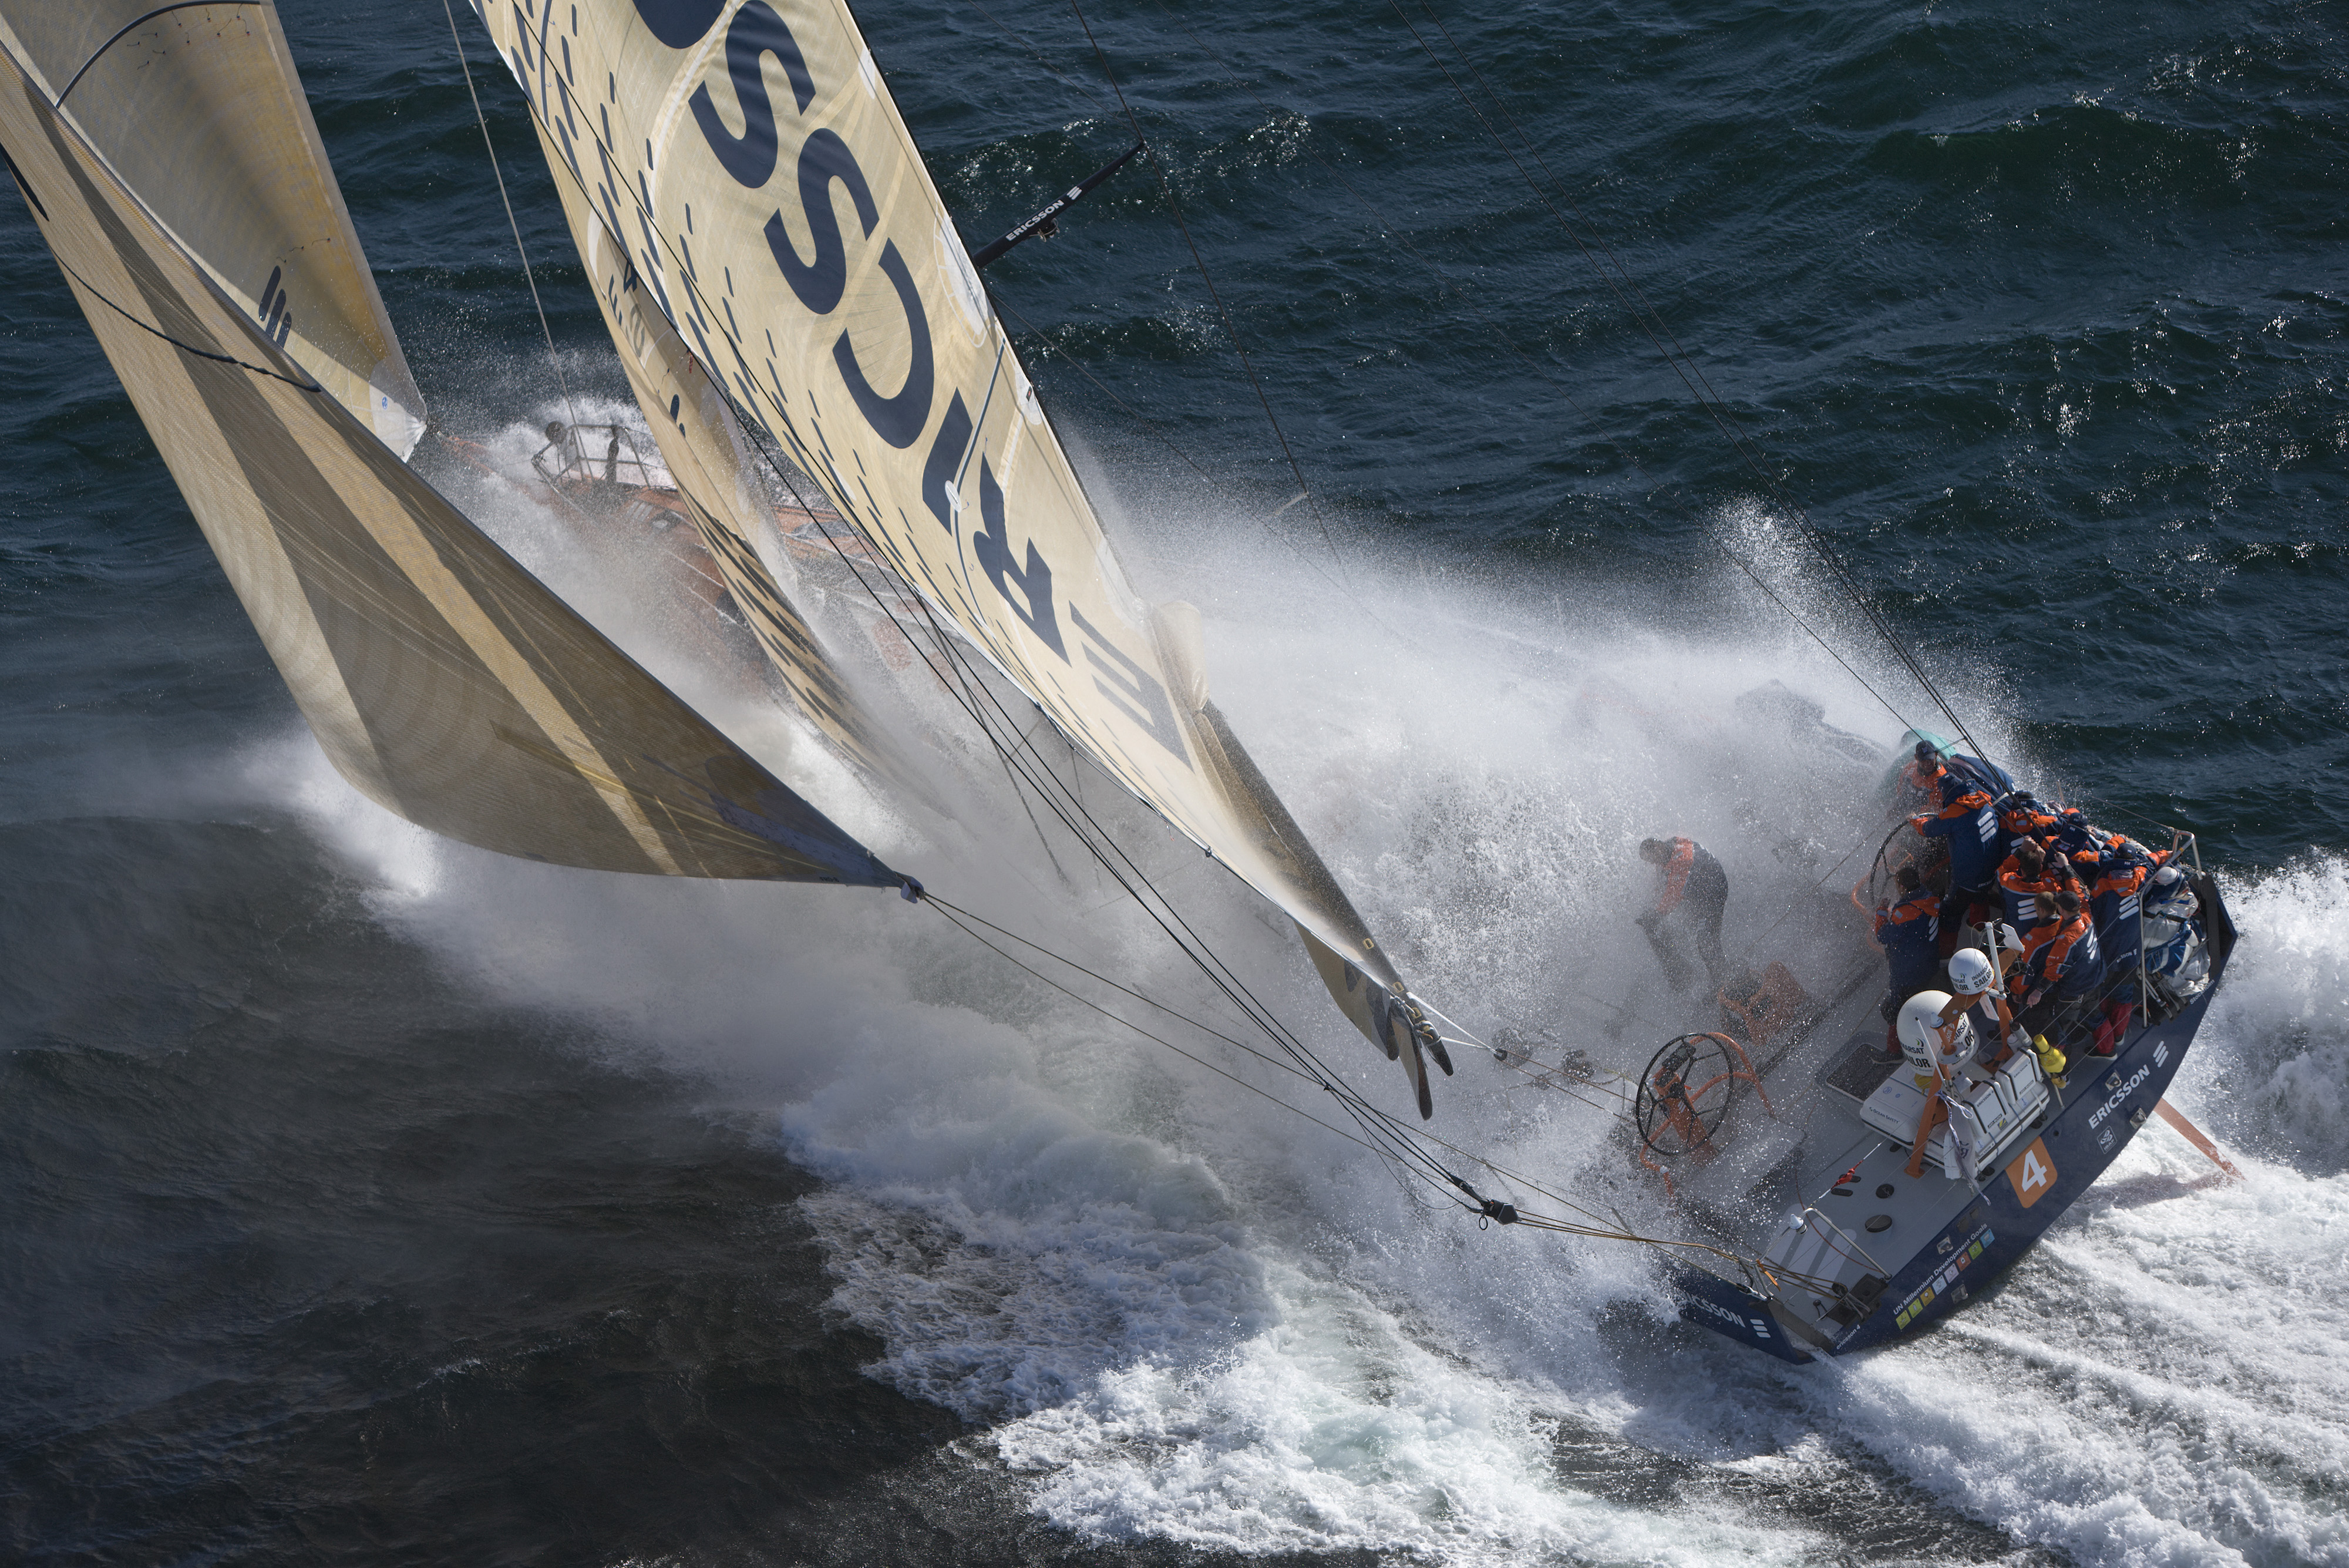
<svg viewBox="0 0 2349 1568"><path fill-rule="evenodd" d="M1419 1127L1435 1113L1433 1075L1454 1073L1452 1045L1485 1042L1438 1028L1445 1014L1402 979L1217 709L1198 610L1153 606L1128 582L980 282L984 261L1050 232L1085 185L972 254L839 0L538 0L479 7L479 21L529 99L655 448L630 437L622 486L622 432L573 423L540 453L550 484L632 486L691 526L728 610L843 777L923 796L926 770L907 756L902 714L874 695L867 650L803 610L815 570L857 596L874 646L895 655L883 664L947 697L1344 1110L1346 1136L1463 1211L1668 1246L1687 1265L1691 1322L1795 1359L1856 1350L1964 1300L1950 1268L1978 1284L2013 1263L2175 1075L2232 941L2208 878L2180 913L2196 991L2126 1042L2098 1080L2112 1089L2067 1099L2025 1054L1985 1106L1997 1131L1964 1162L1943 1157L1950 1174L1877 1181L1910 1150L1898 1115L1870 1117L1882 1084L1860 1089L1853 1066L1877 960L1849 922L1823 937L1839 953L1823 962L1842 965L1825 1002L1790 976L1771 1007L1731 988L1724 1028L1614 1073L1626 1155L1658 1174L1677 1162L1672 1202L1691 1237L1640 1237L1433 1138ZM785 784L409 467L423 399L268 0L0 0L0 146L33 223L355 789L500 854L893 890L965 930L987 925L883 864L841 826L839 803ZM1339 1014L1400 1068L1416 1120L1353 1089L1247 993L1045 765L1022 704L1280 911ZM1506 1042L1489 1049L1501 1068L1567 1075ZM1703 1052L1722 1070L1701 1073ZM1771 1101L1766 1127L1738 1131L1752 1120L1745 1089ZM1837 1120L1835 1096L1856 1110ZM2081 1155L2065 1141L2074 1129ZM2048 1176L2006 1192L1997 1171L2025 1131L2022 1157ZM2060 1160L2048 1141L2065 1141ZM1846 1155L1851 1171L1820 1185L1823 1162ZM1480 1188L1496 1181L1506 1195ZM1849 1183L1879 1204L1851 1225L1837 1207L1860 1190ZM1788 1190L1818 1197L1790 1228L1757 1232L1755 1216Z"/></svg>

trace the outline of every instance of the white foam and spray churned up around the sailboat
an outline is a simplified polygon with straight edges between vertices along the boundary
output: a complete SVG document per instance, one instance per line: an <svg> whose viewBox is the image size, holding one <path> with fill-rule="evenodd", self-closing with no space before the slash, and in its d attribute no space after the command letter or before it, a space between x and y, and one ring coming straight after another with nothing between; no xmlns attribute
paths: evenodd
<svg viewBox="0 0 2349 1568"><path fill-rule="evenodd" d="M512 462L529 430L493 446ZM460 500L782 777L841 798L850 782L754 681L698 662L658 594L583 566L545 512ZM1799 587L1766 519L1729 521ZM1771 847L1816 840L1806 866L1835 876L1867 831L1806 817L1797 761L1738 749L1734 697L1778 676L1886 746L1900 725L1727 566L1672 601L1525 596L1407 559L1311 561L1231 519L1120 528L1151 592L1200 599L1219 704L1405 974L1470 1028L1539 1023L1602 1056L1633 1049L1600 1035L1621 1012L1630 1042L1656 1033L1626 922L1644 833L1734 845L1729 946L1766 958L1773 911L1738 890ZM1402 582L1409 627L1377 610ZM1705 638L1670 608L1689 601ZM1647 1249L1480 1230L1273 1106L1330 1120L1261 1061L1078 981L1200 1061L1174 1056L895 899L500 861L366 805L305 737L242 779L359 866L376 918L453 984L754 1115L822 1178L799 1218L829 1312L883 1345L867 1376L963 1418L956 1462L1078 1540L1459 1566L1816 1563L1851 1542L2349 1563L2340 857L2220 869L2243 939L2173 1101L2243 1183L2149 1124L1994 1300L1795 1368L1677 1324ZM1052 840L1005 791L963 838L871 798L841 817L933 890L1238 1033L1066 838L1059 871L1010 869ZM1135 847L1283 1019L1405 1106L1271 911L1167 833ZM1670 1235L1604 1108L1456 1061L1442 1136Z"/></svg>

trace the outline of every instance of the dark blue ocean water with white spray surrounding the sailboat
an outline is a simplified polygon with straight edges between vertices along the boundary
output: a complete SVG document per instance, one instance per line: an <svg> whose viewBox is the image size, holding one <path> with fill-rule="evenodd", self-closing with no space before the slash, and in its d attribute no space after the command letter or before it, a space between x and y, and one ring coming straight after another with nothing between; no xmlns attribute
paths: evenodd
<svg viewBox="0 0 2349 1568"><path fill-rule="evenodd" d="M1675 1324L1642 1249L1421 1207L1247 1059L1184 1035L1217 1077L895 899L432 840L324 765L0 197L0 1559L2349 1563L2340 12L1085 16L1315 500L1280 512L1146 167L989 282L1405 972L1473 1028L1637 1049L1670 1033L1640 836L1719 847L1762 958L1870 833L1736 695L1781 678L1886 744L1929 718L1588 244L1985 746L2201 836L2243 946L2173 1101L2246 1181L2149 1127L2001 1296L1788 1368ZM1066 9L860 21L975 239L1130 146ZM561 399L439 7L284 23L428 401L519 469ZM460 28L564 378L620 411ZM648 561L420 462L820 768ZM982 793L961 836L843 812L1214 1016ZM1405 1106L1280 922L1135 852ZM1600 1108L1466 1054L1438 1101L1670 1225Z"/></svg>

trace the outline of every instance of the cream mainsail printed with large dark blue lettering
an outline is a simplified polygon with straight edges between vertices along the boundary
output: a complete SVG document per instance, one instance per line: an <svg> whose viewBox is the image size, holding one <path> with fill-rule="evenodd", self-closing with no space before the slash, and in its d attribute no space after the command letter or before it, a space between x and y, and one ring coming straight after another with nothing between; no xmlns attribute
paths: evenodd
<svg viewBox="0 0 2349 1568"><path fill-rule="evenodd" d="M599 242L740 418L1073 744L1290 913L1428 1115L1433 1030L1207 699L1196 613L1128 584L846 5L482 14Z"/></svg>

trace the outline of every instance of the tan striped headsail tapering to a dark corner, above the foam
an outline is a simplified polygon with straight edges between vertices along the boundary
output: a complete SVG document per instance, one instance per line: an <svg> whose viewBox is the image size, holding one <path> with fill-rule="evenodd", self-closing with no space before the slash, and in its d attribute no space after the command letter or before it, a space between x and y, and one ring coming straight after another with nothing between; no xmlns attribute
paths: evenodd
<svg viewBox="0 0 2349 1568"><path fill-rule="evenodd" d="M437 833L543 861L902 880L324 397L12 52L0 146L188 509L357 789Z"/></svg>

